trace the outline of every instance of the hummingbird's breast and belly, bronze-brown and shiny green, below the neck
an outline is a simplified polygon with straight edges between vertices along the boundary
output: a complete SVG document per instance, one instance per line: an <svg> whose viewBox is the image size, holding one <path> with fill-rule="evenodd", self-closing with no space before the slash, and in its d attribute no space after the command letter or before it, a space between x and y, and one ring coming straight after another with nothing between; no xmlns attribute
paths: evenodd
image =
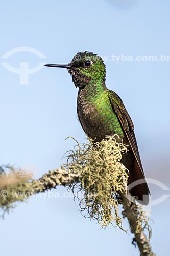
<svg viewBox="0 0 170 256"><path fill-rule="evenodd" d="M89 94L79 90L77 99L78 118L85 133L100 142L107 135L117 134L124 138L124 132L114 113L107 90Z"/></svg>

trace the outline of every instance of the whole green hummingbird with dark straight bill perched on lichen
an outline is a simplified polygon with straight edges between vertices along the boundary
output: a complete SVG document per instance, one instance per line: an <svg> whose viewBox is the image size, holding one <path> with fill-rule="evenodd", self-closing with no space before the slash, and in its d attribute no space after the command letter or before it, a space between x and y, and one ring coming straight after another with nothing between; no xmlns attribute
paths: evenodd
<svg viewBox="0 0 170 256"><path fill-rule="evenodd" d="M117 142L128 146L121 162L129 170L130 193L141 204L149 203L150 190L145 181L142 163L134 134L134 125L122 99L105 84L106 66L93 52L78 52L69 64L45 64L47 67L65 68L78 87L77 114L86 135L95 142L117 134ZM142 179L142 180L141 180ZM140 180L142 182L140 182Z"/></svg>

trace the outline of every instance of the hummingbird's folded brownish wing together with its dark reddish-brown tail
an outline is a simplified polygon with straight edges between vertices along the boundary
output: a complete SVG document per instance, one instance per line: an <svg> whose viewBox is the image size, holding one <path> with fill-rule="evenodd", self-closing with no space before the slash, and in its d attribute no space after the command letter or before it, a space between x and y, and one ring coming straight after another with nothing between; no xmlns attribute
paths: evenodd
<svg viewBox="0 0 170 256"><path fill-rule="evenodd" d="M108 90L108 96L110 99L110 103L112 106L113 111L116 113L118 120L120 121L124 132L128 138L128 141L130 143L130 146L132 148L133 154L135 156L135 162L132 168L132 171L129 174L128 184L131 184L134 181L145 179L140 155L138 151L138 146L136 142L136 137L134 134L134 125L132 122L132 119L130 118L124 103L122 99L113 91ZM138 196L139 200L143 199L143 195L149 195L150 190L147 185L147 182L145 181L142 184L136 185L131 189L132 195ZM149 202L149 196L145 196L144 204L148 204Z"/></svg>

